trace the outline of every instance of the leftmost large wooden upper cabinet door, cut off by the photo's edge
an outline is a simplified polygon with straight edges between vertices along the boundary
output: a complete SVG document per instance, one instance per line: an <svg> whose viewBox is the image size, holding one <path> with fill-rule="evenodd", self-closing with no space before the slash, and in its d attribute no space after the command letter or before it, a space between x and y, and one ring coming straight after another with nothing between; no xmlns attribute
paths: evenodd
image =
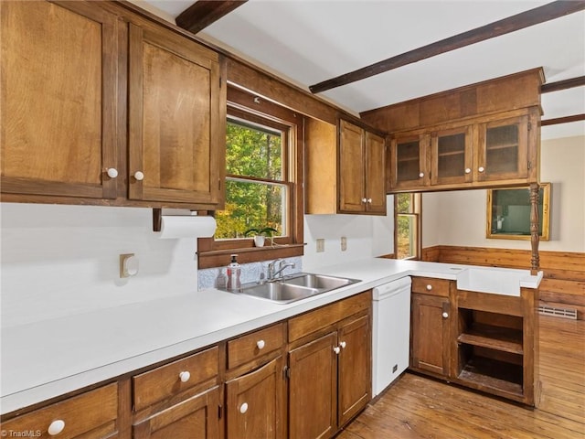
<svg viewBox="0 0 585 439"><path fill-rule="evenodd" d="M0 8L2 191L116 198L116 16L85 2Z"/></svg>

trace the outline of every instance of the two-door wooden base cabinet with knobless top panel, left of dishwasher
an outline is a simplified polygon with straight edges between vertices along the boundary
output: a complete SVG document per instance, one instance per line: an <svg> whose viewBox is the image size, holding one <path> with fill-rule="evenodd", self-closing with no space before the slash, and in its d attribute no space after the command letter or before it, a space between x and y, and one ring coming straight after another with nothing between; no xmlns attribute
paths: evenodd
<svg viewBox="0 0 585 439"><path fill-rule="evenodd" d="M289 320L288 437L332 437L371 391L371 292Z"/></svg>

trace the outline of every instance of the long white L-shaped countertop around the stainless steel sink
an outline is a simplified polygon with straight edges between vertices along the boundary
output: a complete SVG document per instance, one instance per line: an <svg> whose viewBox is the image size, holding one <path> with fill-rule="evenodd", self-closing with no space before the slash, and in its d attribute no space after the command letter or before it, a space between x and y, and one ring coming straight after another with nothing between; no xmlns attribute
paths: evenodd
<svg viewBox="0 0 585 439"><path fill-rule="evenodd" d="M75 391L407 275L455 280L466 265L368 259L318 273L361 282L288 305L216 289L2 330L1 412ZM540 276L522 271L522 286Z"/></svg>

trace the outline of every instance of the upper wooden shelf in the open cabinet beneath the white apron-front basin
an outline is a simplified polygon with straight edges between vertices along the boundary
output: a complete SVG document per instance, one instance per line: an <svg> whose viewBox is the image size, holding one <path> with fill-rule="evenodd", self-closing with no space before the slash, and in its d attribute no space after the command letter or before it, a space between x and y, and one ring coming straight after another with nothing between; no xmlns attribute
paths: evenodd
<svg viewBox="0 0 585 439"><path fill-rule="evenodd" d="M473 346L522 355L522 331L507 327L473 324L457 337L457 341Z"/></svg>

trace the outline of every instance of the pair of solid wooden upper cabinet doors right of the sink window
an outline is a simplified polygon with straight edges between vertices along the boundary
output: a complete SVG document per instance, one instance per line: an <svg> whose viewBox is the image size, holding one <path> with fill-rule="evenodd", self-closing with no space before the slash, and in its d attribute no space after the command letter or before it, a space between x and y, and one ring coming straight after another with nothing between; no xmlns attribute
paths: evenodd
<svg viewBox="0 0 585 439"><path fill-rule="evenodd" d="M386 141L340 121L339 212L386 214Z"/></svg>

